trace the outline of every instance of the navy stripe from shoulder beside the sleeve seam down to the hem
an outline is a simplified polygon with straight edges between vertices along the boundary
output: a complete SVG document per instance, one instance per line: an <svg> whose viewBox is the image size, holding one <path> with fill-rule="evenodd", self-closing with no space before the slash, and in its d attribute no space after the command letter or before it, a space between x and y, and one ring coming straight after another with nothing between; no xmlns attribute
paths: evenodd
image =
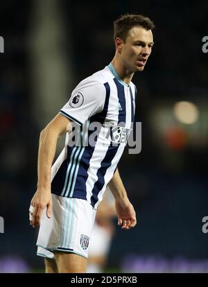
<svg viewBox="0 0 208 287"><path fill-rule="evenodd" d="M92 116L90 118L90 123L93 123L94 121L98 121L99 123L101 123L101 125L103 125L105 118L107 116L107 110L108 110L108 105L109 105L109 98L110 98L110 85L106 82L104 84L105 86L105 91L106 91L106 96L105 96L105 104L103 107L103 111L95 114L94 116ZM88 139L90 137L90 135L94 132L94 130L89 130L88 131ZM97 141L97 137L95 139L95 141ZM80 166L78 169L78 175L76 177L76 184L74 186L74 190L73 190L73 198L83 198L83 199L87 199L87 191L86 191L86 182L87 182L87 178L88 178L88 168L89 168L89 161L92 158L92 155L94 153L94 148L96 145L94 146L86 146L85 147L85 151L80 159Z"/></svg>

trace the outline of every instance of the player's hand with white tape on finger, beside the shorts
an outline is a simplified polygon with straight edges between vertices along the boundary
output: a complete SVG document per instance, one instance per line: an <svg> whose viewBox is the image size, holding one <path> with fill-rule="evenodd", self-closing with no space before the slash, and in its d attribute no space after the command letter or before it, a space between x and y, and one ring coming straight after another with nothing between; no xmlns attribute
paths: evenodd
<svg viewBox="0 0 208 287"><path fill-rule="evenodd" d="M30 225L37 227L40 225L40 219L42 212L46 207L46 215L51 218L52 197L51 190L49 189L37 189L33 199L31 200L30 212Z"/></svg>

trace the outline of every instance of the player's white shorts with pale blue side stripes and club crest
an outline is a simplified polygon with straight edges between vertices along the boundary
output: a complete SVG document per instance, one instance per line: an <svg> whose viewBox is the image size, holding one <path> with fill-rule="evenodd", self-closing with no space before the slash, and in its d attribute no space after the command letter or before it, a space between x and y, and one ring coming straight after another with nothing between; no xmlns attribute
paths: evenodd
<svg viewBox="0 0 208 287"><path fill-rule="evenodd" d="M79 198L64 198L52 193L51 218L42 214L37 238L37 255L54 258L53 251L72 252L88 257L88 245L96 209Z"/></svg>

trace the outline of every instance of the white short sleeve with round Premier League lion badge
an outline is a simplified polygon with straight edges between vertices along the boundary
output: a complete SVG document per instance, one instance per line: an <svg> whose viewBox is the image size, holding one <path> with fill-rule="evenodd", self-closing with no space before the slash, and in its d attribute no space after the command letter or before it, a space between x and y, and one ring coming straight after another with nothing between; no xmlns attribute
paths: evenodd
<svg viewBox="0 0 208 287"><path fill-rule="evenodd" d="M105 94L105 86L101 82L84 80L73 90L69 102L59 113L82 125L90 116L103 110Z"/></svg>

